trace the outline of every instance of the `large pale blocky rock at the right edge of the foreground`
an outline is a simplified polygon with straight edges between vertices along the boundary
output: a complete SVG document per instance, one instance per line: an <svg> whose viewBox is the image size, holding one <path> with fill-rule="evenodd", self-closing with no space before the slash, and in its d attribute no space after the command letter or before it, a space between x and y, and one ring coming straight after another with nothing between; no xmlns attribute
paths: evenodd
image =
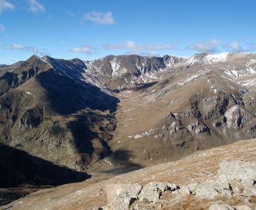
<svg viewBox="0 0 256 210"><path fill-rule="evenodd" d="M217 173L217 182L222 188L234 193L256 195L256 162L222 162Z"/></svg>

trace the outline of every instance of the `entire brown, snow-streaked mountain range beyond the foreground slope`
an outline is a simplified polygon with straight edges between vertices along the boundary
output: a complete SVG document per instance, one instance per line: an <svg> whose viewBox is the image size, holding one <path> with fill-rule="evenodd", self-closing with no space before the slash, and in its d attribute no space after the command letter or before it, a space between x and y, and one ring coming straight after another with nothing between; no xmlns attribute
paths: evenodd
<svg viewBox="0 0 256 210"><path fill-rule="evenodd" d="M78 171L256 137L256 55L32 56L0 77L0 141Z"/></svg>

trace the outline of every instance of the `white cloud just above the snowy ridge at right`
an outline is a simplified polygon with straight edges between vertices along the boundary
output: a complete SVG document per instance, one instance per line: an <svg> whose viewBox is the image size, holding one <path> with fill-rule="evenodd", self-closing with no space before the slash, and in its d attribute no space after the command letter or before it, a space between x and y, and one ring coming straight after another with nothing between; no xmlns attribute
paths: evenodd
<svg viewBox="0 0 256 210"><path fill-rule="evenodd" d="M215 47L215 45L220 44L220 41L218 41L216 38L213 38L210 41L198 41L198 43L189 45L187 49L199 52L218 52L219 50Z"/></svg>

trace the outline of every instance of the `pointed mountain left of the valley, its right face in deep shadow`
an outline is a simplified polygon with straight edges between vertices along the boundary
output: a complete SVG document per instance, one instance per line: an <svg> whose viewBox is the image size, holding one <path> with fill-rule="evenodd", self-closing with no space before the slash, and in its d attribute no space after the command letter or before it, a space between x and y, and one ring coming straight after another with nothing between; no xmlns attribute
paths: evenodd
<svg viewBox="0 0 256 210"><path fill-rule="evenodd" d="M11 76L1 77L1 141L84 170L111 153L108 141L115 129L111 112L118 99L79 80L81 72L72 63L68 62L68 73L57 60L51 63L33 56ZM28 71L33 74L28 76Z"/></svg>

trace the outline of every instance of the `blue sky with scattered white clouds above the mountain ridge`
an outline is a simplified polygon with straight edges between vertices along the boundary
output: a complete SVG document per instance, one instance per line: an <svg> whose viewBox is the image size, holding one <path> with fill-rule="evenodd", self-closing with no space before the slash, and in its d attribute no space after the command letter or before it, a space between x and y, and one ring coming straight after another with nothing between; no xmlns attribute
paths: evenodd
<svg viewBox="0 0 256 210"><path fill-rule="evenodd" d="M252 0L0 0L0 64L256 53L255 8Z"/></svg>

